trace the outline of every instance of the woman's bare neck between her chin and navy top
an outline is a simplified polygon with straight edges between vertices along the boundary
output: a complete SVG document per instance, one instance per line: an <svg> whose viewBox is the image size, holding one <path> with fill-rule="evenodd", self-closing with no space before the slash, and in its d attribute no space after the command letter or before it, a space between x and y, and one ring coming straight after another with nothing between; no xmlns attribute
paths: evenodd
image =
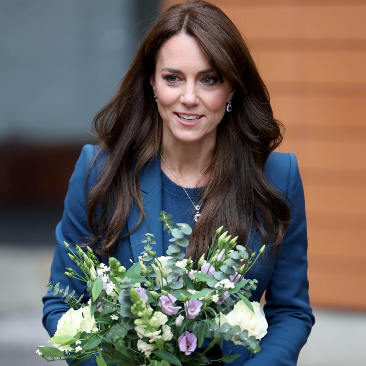
<svg viewBox="0 0 366 366"><path fill-rule="evenodd" d="M210 171L203 173L213 158L216 144L216 131L214 132L212 136L205 136L202 141L184 142L167 136L164 138L163 131L160 153L172 171L169 171L164 161L161 161L164 173L173 181L178 178L180 184L186 188L207 184L211 173Z"/></svg>

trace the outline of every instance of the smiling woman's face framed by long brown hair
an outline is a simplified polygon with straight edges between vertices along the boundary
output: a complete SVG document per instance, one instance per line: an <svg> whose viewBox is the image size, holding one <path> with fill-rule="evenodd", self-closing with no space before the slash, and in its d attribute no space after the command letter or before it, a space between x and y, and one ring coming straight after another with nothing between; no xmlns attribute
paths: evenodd
<svg viewBox="0 0 366 366"><path fill-rule="evenodd" d="M157 95L163 134L182 142L216 136L234 90L221 83L192 36L169 38L160 48L150 84Z"/></svg>

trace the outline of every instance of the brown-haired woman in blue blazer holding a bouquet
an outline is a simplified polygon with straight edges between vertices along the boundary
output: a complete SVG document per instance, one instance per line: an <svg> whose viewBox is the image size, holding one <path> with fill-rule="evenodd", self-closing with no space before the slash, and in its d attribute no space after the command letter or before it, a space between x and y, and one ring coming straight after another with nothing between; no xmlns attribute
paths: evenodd
<svg viewBox="0 0 366 366"><path fill-rule="evenodd" d="M103 262L113 254L128 267L147 231L157 256L165 254L162 209L194 226L187 257L205 253L224 225L250 251L268 244L247 278L259 280L251 301L266 291L269 328L259 354L225 343L223 354L240 353L235 365L296 365L314 324L303 187L296 156L273 152L280 123L231 20L205 1L165 11L94 127L100 146L83 147L71 176L51 280L85 292L63 275L73 265L64 240L88 243ZM43 301L53 335L68 307L52 295Z"/></svg>

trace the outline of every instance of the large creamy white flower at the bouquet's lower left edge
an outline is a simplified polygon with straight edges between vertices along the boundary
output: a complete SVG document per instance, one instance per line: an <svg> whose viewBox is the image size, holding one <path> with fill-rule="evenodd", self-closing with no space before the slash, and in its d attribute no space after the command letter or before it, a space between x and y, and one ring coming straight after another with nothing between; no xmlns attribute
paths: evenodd
<svg viewBox="0 0 366 366"><path fill-rule="evenodd" d="M71 307L58 321L55 336L68 335L73 337L76 333L91 329L95 325L94 315L90 316L90 306L80 307L78 310ZM63 352L70 348L68 344L60 346L60 344L53 343L53 346Z"/></svg>

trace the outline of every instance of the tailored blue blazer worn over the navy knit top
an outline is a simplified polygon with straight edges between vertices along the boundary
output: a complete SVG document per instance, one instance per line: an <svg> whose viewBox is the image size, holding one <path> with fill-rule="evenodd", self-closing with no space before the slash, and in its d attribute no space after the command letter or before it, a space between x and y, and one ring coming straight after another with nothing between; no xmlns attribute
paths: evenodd
<svg viewBox="0 0 366 366"><path fill-rule="evenodd" d="M51 281L60 282L61 288L69 285L70 290L75 290L79 295L85 294L86 299L88 294L85 284L64 275L65 267L72 267L75 270L78 268L67 256L63 241L69 244L82 243L85 241L83 238L91 235L87 224L84 188L87 171L98 149L97 146L85 145L76 162L64 201L62 220L56 227L57 245L50 276ZM93 165L87 182L88 191L96 183L105 157L106 153L100 154L96 164ZM259 281L251 301L259 301L266 291L264 312L269 325L268 333L261 340L262 351L256 355L250 354L245 347L224 342L223 354L240 354L240 357L231 363L233 366L244 363L248 366L296 365L299 352L306 343L315 321L308 295L305 201L295 154L271 153L265 165L265 176L274 188L286 193L293 202L291 223L283 240L281 255L273 259L270 255L264 259L259 258L247 273L246 278L256 278ZM163 227L161 221L157 220L161 211L162 189L159 159L143 169L140 187L147 221L144 219L133 234L121 240L114 255L126 268L131 265L130 258L135 262L138 261L137 257L143 251L141 240L146 232L152 232L155 235L156 255L159 257L165 254L163 253ZM133 206L123 234L135 226L138 217L138 208ZM258 228L255 228L251 231L247 246L258 253L262 245L261 239ZM102 257L101 261L108 263L108 258ZM60 298L52 296L51 292L48 292L42 300L44 303L42 322L49 335L53 336L57 321L69 307ZM95 363L89 361L83 365L95 365Z"/></svg>

